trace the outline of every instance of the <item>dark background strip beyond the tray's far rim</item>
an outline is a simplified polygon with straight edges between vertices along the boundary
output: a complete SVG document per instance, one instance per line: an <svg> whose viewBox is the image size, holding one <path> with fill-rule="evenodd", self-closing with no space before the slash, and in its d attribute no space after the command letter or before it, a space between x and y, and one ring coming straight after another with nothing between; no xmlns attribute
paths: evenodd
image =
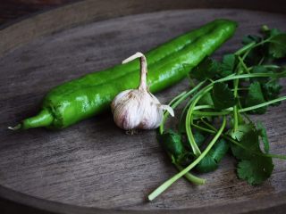
<svg viewBox="0 0 286 214"><path fill-rule="evenodd" d="M125 1L125 0L124 0ZM132 1L132 2L131 2ZM144 8L147 7L148 0L138 1L137 3L134 0L127 1L129 2L129 7L134 8L132 4L142 4ZM82 4L97 4L97 0L83 1L83 0L1 0L0 4L0 26L9 25L15 21L19 21L23 18L27 18L31 15L34 15L39 12L46 12L56 7L62 6L64 4L71 4L75 2L83 2ZM110 1L105 1L110 2ZM147 2L147 4L146 4ZM189 3L188 3L189 2ZM150 3L150 2L149 2ZM162 3L166 4L166 1L161 2L160 0L152 1L151 7L157 7L156 10L164 7ZM248 0L248 1L228 1L228 0L208 0L208 1L189 1L183 0L183 4L192 5L192 7L211 7L211 8L224 8L224 7L234 7L234 8L248 8L248 9L259 9L273 12L284 12L285 5L283 0L275 0L275 4L269 4L267 1L257 4L257 0ZM79 5L82 5L81 3ZM122 4L122 1L121 1ZM161 6L158 6L160 5ZM168 3L167 3L168 4ZM173 3L172 3L173 4ZM178 0L175 1L175 4L178 4ZM279 4L279 7L277 6ZM283 6L284 5L284 6ZM113 5L110 4L109 7ZM118 4L114 5L115 7ZM73 5L71 7L74 7ZM142 8L142 7L141 7ZM94 10L91 8L91 10ZM94 10L97 11L97 10Z"/></svg>

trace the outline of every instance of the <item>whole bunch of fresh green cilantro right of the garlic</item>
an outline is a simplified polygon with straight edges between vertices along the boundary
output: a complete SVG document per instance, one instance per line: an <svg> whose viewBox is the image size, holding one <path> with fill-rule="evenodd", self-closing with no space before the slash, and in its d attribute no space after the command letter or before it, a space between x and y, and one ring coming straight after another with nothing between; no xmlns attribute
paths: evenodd
<svg viewBox="0 0 286 214"><path fill-rule="evenodd" d="M264 125L247 115L264 114L269 105L286 100L279 97L279 80L286 77L286 68L274 64L286 57L286 34L263 26L262 36L244 37L242 44L222 62L207 57L189 73L193 88L170 103L173 109L185 103L178 130L164 129L169 116L164 113L157 139L180 172L150 193L149 201L183 176L196 185L205 184L189 171L213 171L229 151L238 160L238 177L250 185L271 176L273 158L286 160L286 155L269 153ZM195 86L193 79L198 80Z"/></svg>

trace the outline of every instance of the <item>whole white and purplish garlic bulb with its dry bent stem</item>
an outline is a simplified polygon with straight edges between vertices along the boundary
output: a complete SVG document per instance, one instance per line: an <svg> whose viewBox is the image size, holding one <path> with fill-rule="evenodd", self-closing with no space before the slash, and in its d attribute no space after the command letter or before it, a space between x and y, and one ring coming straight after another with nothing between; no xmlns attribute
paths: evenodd
<svg viewBox="0 0 286 214"><path fill-rule="evenodd" d="M173 116L169 105L162 105L152 95L146 83L147 60L143 53L135 53L122 63L140 58L140 84L138 89L122 91L116 95L111 109L115 124L125 130L158 128L163 120L164 110Z"/></svg>

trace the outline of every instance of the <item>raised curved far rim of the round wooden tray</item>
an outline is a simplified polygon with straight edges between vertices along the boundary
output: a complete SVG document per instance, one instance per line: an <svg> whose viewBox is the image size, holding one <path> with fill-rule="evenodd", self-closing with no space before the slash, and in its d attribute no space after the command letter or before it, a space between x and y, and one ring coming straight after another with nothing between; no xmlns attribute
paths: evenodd
<svg viewBox="0 0 286 214"><path fill-rule="evenodd" d="M166 10L194 8L240 8L266 12L286 12L284 0L267 1L257 0L85 0L56 8L51 12L43 12L32 19L24 19L9 28L0 26L0 56L12 51L13 48L28 44L30 41L69 29L76 25L93 21L103 21L120 16L138 14L142 12L158 12Z"/></svg>

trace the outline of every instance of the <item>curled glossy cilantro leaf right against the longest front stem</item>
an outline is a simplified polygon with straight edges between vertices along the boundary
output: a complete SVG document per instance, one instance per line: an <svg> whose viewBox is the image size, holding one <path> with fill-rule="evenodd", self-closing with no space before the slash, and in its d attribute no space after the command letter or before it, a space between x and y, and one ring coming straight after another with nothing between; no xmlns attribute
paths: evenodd
<svg viewBox="0 0 286 214"><path fill-rule="evenodd" d="M222 161L226 152L228 152L230 145L222 138L216 142L213 148L206 154L206 156L199 161L196 169L199 172L210 172L218 168L218 164Z"/></svg>

